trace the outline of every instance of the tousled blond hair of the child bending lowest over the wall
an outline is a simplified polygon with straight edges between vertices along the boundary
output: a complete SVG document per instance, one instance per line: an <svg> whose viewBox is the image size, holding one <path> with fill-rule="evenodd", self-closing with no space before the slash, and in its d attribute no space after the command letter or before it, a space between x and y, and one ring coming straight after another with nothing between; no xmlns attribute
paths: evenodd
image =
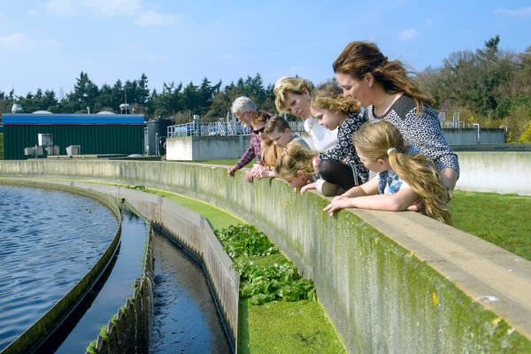
<svg viewBox="0 0 531 354"><path fill-rule="evenodd" d="M319 151L308 150L300 142L289 142L284 153L274 164L274 170L284 180L296 177L297 171L304 171L308 176L313 173L313 159Z"/></svg>

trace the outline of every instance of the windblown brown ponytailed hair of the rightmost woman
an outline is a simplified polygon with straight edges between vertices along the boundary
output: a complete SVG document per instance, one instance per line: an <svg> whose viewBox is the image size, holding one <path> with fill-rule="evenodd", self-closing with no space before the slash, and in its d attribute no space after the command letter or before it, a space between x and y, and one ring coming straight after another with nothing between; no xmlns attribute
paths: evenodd
<svg viewBox="0 0 531 354"><path fill-rule="evenodd" d="M388 61L376 44L371 42L350 42L332 65L334 73L348 73L362 80L366 73L372 73L388 94L404 92L417 104L420 114L425 104L434 104L433 98L423 93L407 76L404 65L399 60Z"/></svg>

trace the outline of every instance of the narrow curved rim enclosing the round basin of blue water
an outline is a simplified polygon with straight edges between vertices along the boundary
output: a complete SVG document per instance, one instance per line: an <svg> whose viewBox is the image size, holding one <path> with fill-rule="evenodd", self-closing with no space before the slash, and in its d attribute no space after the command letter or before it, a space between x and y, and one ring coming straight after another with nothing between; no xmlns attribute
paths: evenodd
<svg viewBox="0 0 531 354"><path fill-rule="evenodd" d="M0 184L62 190L79 194L81 196L90 197L96 199L109 208L118 220L119 227L116 235L112 239L112 242L109 244L107 250L105 250L103 256L99 258L96 261L96 264L89 270L89 273L87 273L81 279L81 281L79 281L73 287L73 289L71 289L62 299L60 299L57 304L53 305L48 312L42 315L40 319L37 319L35 323L31 327L27 328L22 335L19 335L16 340L2 350L2 354L34 352L34 350L36 350L42 344L42 342L44 342L46 338L48 338L48 336L51 335L61 325L61 323L69 316L69 314L73 312L75 307L80 304L82 299L89 293L89 290L92 289L96 281L109 265L118 248L119 237L121 235L119 209L111 198L86 189L74 188L70 182L66 183L65 185L54 185L35 181L0 179Z"/></svg>

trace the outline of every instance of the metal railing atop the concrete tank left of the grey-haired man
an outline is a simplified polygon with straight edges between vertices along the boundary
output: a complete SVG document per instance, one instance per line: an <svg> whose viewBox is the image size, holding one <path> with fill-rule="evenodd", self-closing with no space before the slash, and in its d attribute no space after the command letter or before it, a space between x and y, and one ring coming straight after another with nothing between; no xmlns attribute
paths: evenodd
<svg viewBox="0 0 531 354"><path fill-rule="evenodd" d="M167 137L177 136L227 136L250 134L250 127L238 122L192 122L167 127Z"/></svg>

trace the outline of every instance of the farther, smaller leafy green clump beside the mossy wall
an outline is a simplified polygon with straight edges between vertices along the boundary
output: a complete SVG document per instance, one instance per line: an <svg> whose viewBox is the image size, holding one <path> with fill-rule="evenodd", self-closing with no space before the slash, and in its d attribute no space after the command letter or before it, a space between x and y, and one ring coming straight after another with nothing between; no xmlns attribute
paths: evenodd
<svg viewBox="0 0 531 354"><path fill-rule="evenodd" d="M251 225L236 225L214 230L219 241L225 245L232 258L250 256L268 256L278 253L276 246L267 239L266 234L259 232Z"/></svg>

